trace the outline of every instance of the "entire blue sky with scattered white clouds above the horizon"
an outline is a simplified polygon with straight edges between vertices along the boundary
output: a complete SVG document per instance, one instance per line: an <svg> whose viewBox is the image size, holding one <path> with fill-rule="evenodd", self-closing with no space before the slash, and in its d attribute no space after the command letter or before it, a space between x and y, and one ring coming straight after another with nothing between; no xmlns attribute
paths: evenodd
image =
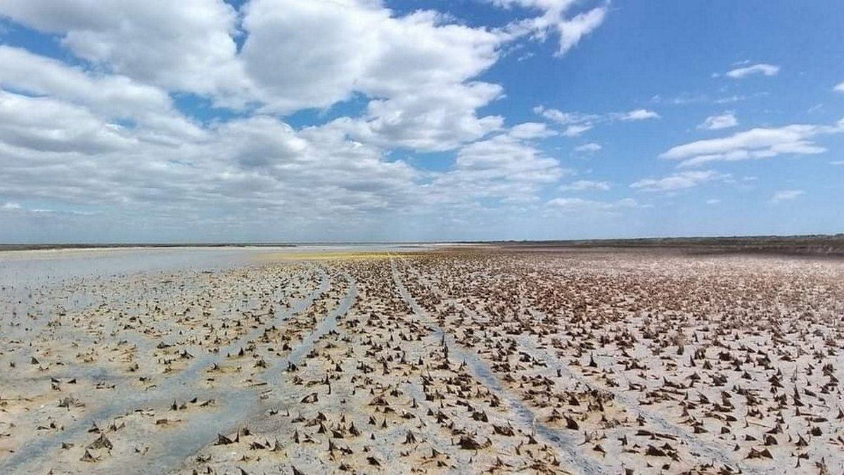
<svg viewBox="0 0 844 475"><path fill-rule="evenodd" d="M844 3L3 0L0 243L844 232Z"/></svg>

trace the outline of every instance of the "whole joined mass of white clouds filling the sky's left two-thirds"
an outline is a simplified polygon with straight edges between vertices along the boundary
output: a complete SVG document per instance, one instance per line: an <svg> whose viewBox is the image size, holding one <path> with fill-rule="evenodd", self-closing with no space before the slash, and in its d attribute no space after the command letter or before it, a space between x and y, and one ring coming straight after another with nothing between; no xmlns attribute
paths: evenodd
<svg viewBox="0 0 844 475"><path fill-rule="evenodd" d="M2 2L63 48L0 45L3 210L284 239L541 203L571 171L537 142L565 132L479 112L505 96L479 77L514 41L556 36L562 53L603 22L605 6L571 4L502 1L527 18L490 28L373 0ZM307 109L331 118L291 125ZM407 158L448 150L436 172Z"/></svg>

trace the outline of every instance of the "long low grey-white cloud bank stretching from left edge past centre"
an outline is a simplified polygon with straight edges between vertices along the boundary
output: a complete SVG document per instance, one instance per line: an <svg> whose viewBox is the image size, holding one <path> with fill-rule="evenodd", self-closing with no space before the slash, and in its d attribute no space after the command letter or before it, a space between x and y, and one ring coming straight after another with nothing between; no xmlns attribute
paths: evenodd
<svg viewBox="0 0 844 475"><path fill-rule="evenodd" d="M215 124L208 137L178 145L141 141L137 132L62 101L4 92L3 194L145 210L174 226L237 216L223 224L281 220L295 227L341 217L354 223L388 213L446 212L477 199L530 202L569 173L529 143L544 135L536 126L464 145L445 172L387 161L381 147L349 139L330 124L296 130L277 117Z"/></svg>

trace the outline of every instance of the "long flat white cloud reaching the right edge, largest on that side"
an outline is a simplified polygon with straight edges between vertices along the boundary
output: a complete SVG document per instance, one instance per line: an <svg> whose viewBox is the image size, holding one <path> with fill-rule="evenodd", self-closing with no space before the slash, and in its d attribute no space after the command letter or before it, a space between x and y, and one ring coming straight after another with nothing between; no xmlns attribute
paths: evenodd
<svg viewBox="0 0 844 475"><path fill-rule="evenodd" d="M780 128L753 128L721 139L677 145L661 157L682 160L682 167L695 167L711 161L744 161L782 154L819 154L826 149L810 139L819 134L841 132L844 132L844 119L834 126L793 124Z"/></svg>

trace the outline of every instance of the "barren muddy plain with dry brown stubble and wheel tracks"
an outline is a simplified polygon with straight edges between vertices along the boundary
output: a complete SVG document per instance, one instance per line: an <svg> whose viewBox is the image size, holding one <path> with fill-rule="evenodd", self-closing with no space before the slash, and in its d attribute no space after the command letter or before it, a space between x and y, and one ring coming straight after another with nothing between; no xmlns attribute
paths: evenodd
<svg viewBox="0 0 844 475"><path fill-rule="evenodd" d="M3 473L844 473L844 259L0 252Z"/></svg>

